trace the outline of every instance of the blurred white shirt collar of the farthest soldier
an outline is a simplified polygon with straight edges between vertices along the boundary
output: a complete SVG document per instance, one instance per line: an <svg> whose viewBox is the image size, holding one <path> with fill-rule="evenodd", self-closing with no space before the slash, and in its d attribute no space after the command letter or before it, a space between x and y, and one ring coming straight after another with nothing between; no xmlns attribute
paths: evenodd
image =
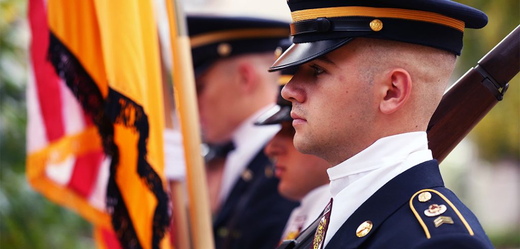
<svg viewBox="0 0 520 249"><path fill-rule="evenodd" d="M230 151L226 157L218 198L219 203L224 203L251 160L280 130L280 125L254 125L258 117L271 107L268 106L257 111L233 132L231 139L235 144L235 149Z"/></svg>

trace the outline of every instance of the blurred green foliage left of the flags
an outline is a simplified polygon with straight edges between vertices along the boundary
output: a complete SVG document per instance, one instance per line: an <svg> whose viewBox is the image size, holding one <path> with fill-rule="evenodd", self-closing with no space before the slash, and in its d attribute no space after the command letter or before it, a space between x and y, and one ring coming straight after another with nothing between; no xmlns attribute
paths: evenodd
<svg viewBox="0 0 520 249"><path fill-rule="evenodd" d="M25 178L27 2L0 1L0 248L94 248L92 228Z"/></svg>

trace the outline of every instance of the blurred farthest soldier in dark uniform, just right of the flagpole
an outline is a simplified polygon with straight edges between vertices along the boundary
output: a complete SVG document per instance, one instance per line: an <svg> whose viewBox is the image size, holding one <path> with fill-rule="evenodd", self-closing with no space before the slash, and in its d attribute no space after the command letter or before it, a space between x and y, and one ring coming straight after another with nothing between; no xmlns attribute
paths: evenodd
<svg viewBox="0 0 520 249"><path fill-rule="evenodd" d="M276 190L263 153L279 127L255 126L272 107L276 78L266 68L287 23L231 17L188 17L203 140L231 141L215 193L217 248L274 248L295 202Z"/></svg>

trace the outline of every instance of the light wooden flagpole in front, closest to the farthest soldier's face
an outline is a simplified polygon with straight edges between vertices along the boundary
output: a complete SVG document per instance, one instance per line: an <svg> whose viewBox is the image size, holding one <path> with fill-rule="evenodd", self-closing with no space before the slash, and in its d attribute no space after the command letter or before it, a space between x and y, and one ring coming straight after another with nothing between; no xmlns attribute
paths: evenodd
<svg viewBox="0 0 520 249"><path fill-rule="evenodd" d="M186 21L178 0L166 0L173 52L173 85L186 158L193 248L215 247L204 161L200 154L200 125Z"/></svg>

